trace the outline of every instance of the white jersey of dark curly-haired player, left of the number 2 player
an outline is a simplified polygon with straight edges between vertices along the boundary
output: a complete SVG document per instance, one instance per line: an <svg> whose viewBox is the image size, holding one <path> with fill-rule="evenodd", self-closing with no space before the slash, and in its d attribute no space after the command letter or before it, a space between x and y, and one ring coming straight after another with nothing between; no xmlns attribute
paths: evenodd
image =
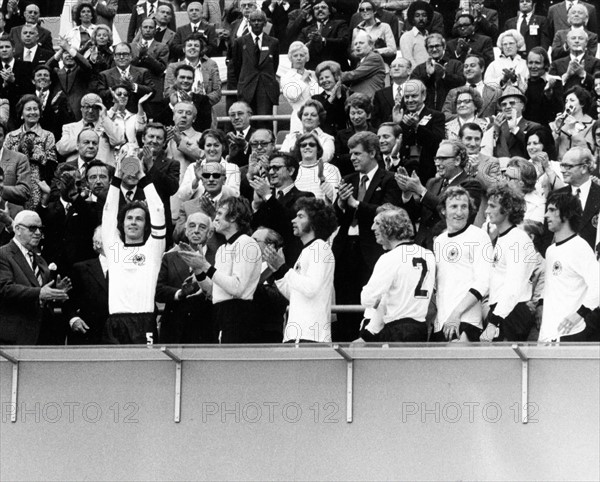
<svg viewBox="0 0 600 482"><path fill-rule="evenodd" d="M316 239L304 247L294 267L275 282L290 300L283 341L331 341L334 271L331 246Z"/></svg>

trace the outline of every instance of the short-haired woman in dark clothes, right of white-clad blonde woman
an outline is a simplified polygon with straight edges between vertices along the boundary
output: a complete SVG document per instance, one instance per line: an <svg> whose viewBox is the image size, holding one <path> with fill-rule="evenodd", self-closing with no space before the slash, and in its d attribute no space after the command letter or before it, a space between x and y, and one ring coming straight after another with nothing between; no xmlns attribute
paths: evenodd
<svg viewBox="0 0 600 482"><path fill-rule="evenodd" d="M342 84L342 70L337 62L323 62L317 65L315 75L323 92L312 98L321 103L325 109L325 120L322 129L334 136L338 130L348 127L346 117L346 99L352 91Z"/></svg>

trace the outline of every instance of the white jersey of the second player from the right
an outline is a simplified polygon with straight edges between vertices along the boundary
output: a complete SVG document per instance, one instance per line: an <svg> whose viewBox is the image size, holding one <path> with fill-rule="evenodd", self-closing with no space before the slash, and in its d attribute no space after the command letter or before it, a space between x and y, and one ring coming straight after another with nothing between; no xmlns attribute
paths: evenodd
<svg viewBox="0 0 600 482"><path fill-rule="evenodd" d="M498 236L496 245L486 250L492 255L490 272L490 305L494 314L506 318L517 303L531 299L529 278L536 265L535 248L525 231L516 226Z"/></svg>

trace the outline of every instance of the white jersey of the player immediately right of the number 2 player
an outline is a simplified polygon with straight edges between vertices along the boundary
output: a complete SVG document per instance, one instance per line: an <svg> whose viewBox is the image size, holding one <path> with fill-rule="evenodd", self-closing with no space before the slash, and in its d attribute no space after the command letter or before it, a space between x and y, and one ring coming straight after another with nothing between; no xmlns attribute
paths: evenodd
<svg viewBox="0 0 600 482"><path fill-rule="evenodd" d="M486 250L491 252L492 242L485 231L470 225L456 233L440 234L433 249L437 265L434 331L438 332L467 293L479 301L487 296L492 264ZM481 303L475 303L460 321L483 328L482 316Z"/></svg>

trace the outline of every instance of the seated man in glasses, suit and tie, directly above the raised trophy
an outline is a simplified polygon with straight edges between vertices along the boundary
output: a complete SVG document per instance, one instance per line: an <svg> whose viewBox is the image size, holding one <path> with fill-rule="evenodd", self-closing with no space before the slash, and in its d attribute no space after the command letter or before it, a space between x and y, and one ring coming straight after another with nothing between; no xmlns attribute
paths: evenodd
<svg viewBox="0 0 600 482"><path fill-rule="evenodd" d="M100 77L92 82L91 90L100 95L104 105L110 107L113 103L110 90L119 84L126 83L133 92L133 95L129 96L127 110L136 113L138 99L155 90L150 71L131 65L133 52L129 44L118 44L115 47L114 57L115 67L101 72Z"/></svg>

